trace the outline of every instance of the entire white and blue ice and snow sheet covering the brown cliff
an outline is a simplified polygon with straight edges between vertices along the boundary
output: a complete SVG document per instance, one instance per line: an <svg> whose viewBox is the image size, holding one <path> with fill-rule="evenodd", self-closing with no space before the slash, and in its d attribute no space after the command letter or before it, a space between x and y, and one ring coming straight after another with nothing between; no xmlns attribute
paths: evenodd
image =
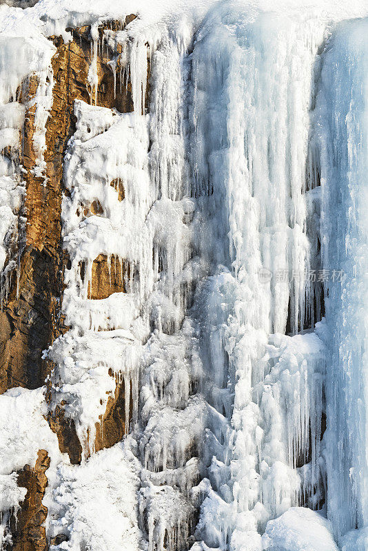
<svg viewBox="0 0 368 551"><path fill-rule="evenodd" d="M0 537L45 449L54 551L367 549L367 7L72 4L0 6L1 300L24 245L19 87L37 76L42 179L46 37L91 25L92 60L63 165L70 329L44 351L48 403L0 397ZM106 44L131 113L96 105ZM124 289L93 299L101 255ZM122 383L125 439L96 452ZM80 465L44 418L59 404Z"/></svg>

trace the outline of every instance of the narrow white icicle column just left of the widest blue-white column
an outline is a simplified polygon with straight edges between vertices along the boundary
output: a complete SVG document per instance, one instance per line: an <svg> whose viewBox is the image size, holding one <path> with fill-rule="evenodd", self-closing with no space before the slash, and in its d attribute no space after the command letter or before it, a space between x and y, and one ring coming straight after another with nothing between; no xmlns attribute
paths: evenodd
<svg viewBox="0 0 368 551"><path fill-rule="evenodd" d="M194 284L206 270L197 256L196 205L188 193L188 46L185 37L165 31L150 61L150 180L156 200L147 222L154 231L155 283L152 333L141 360L138 439L139 510L152 551L188 548L198 507L192 488L203 471L207 406L198 394L198 326L187 317Z"/></svg>

